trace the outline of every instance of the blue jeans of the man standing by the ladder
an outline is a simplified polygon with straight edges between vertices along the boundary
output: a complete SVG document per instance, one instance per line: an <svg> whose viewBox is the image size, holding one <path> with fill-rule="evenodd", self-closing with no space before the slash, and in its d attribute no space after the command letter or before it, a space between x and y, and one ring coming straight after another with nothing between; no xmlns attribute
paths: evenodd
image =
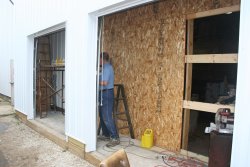
<svg viewBox="0 0 250 167"><path fill-rule="evenodd" d="M114 89L109 89L99 94L100 101L99 115L102 133L104 136L110 136L111 138L119 138L113 119L113 107L114 107Z"/></svg>

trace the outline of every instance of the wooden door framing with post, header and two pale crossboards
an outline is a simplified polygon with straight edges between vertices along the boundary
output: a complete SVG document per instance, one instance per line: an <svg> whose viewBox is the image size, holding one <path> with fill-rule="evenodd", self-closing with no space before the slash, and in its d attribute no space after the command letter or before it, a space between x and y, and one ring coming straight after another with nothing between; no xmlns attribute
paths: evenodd
<svg viewBox="0 0 250 167"><path fill-rule="evenodd" d="M189 136L189 123L190 123L190 109L194 109L198 112L211 112L216 113L219 108L230 108L231 112L234 112L234 106L231 105L221 105L221 104L210 104L210 103L200 103L191 101L191 87L192 87L192 67L193 63L237 63L238 53L230 54L193 54L193 22L196 18L215 16L219 14L224 14L227 12L239 11L239 5L213 9L209 11L199 12L196 14L187 15L187 55L185 56L186 63L186 89L185 89L185 99L183 101L184 108L184 119L183 119L183 132L182 132L182 149L187 150L188 147L188 136ZM191 26L190 26L191 25ZM191 40L189 40L191 39ZM191 52L190 52L191 50ZM190 78L191 76L191 78Z"/></svg>

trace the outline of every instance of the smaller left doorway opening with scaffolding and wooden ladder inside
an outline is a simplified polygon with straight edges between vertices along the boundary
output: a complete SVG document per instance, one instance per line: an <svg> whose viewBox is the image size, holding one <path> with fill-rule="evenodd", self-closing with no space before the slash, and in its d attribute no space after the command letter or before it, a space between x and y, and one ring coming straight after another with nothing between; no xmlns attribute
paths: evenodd
<svg viewBox="0 0 250 167"><path fill-rule="evenodd" d="M65 29L34 40L35 119L65 134Z"/></svg>

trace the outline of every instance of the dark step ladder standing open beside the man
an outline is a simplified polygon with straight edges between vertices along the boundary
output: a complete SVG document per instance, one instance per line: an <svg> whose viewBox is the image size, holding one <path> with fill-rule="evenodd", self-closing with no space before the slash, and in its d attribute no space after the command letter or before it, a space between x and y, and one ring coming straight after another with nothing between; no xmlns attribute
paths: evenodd
<svg viewBox="0 0 250 167"><path fill-rule="evenodd" d="M116 89L116 97L114 99L115 100L114 101L114 120L116 123L118 134L119 134L120 129L129 129L130 136L132 139L134 139L135 136L134 136L133 126L132 126L130 115L129 115L128 103L127 103L127 98L125 95L124 86L123 84L115 84L114 88ZM124 111L120 111L120 109L122 108L122 107L119 107L120 103L123 103ZM125 118L123 115L125 115ZM127 122L127 125L118 127L119 120Z"/></svg>

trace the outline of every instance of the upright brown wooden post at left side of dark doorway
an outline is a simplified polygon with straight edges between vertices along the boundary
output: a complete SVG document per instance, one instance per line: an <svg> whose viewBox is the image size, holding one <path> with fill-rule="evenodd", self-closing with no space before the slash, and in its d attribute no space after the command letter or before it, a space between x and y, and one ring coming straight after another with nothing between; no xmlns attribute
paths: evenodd
<svg viewBox="0 0 250 167"><path fill-rule="evenodd" d="M193 54L193 33L194 21L188 20L187 22L187 53ZM191 100L192 90L192 71L193 65L186 64L186 79L185 79L185 100ZM182 131L182 149L187 150L188 134L189 134L190 110L184 109L183 113L183 131Z"/></svg>

